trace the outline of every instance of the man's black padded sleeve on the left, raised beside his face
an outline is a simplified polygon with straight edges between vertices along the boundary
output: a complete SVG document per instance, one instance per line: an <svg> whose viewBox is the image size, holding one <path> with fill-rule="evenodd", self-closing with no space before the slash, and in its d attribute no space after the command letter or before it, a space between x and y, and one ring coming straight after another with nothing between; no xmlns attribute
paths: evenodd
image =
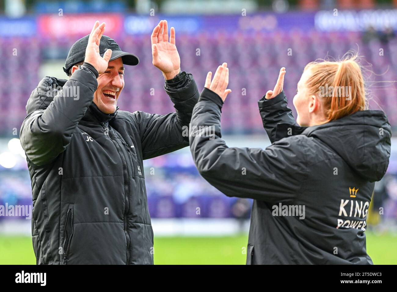
<svg viewBox="0 0 397 292"><path fill-rule="evenodd" d="M20 131L21 145L33 164L51 163L66 149L73 131L93 101L98 87L97 75L90 64L75 71L45 110L36 110L25 118ZM52 92L49 80L44 78L36 90Z"/></svg>

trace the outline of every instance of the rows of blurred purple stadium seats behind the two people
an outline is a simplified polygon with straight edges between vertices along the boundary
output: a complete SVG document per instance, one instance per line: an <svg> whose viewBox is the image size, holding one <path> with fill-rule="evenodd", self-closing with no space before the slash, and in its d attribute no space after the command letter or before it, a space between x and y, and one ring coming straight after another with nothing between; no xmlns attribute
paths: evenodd
<svg viewBox="0 0 397 292"><path fill-rule="evenodd" d="M58 55L66 56L75 40L0 38L0 50L18 48L18 55L25 56L11 56L0 61L0 91L3 97L9 97L0 99L0 133L10 136L10 129L19 128L26 116L26 101L38 81L44 77L38 75L40 63L44 61L43 55L48 55L50 49L59 50L62 53ZM125 87L118 101L120 108L130 112L172 112L173 104L163 89L161 72L152 65L149 36L126 36L116 40L122 49L131 50L140 58L138 66L127 67ZM383 83L393 81L397 76L397 39L386 45L381 45L378 40L364 44L360 33L308 33L299 29L254 35L244 35L241 32L181 35L177 32L177 46L182 70L193 73L199 90L202 89L209 70L214 71L222 62L228 63L229 87L233 93L222 111L224 133L249 134L263 131L256 101L274 87L281 67L287 70L284 90L293 107L296 85L308 62L327 56L338 58L348 50L357 48L360 55L364 56L366 68L379 74L372 75L369 79L370 108L383 109L392 126L397 126L397 115L393 114L397 110L397 91L394 84ZM379 55L380 47L384 48L383 56ZM197 48L200 49L200 56L196 56ZM287 56L289 48L292 49L292 56ZM66 74L60 77L67 78ZM150 95L151 89L154 89L154 95ZM246 95L242 95L243 89Z"/></svg>

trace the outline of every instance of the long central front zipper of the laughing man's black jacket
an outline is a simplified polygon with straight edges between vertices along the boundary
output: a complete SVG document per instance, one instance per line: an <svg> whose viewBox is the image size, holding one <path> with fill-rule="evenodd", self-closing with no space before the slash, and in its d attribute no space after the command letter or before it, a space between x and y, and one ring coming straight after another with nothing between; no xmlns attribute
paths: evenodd
<svg viewBox="0 0 397 292"><path fill-rule="evenodd" d="M91 108L88 107L88 110L95 116L95 114L91 111ZM95 116L96 118L96 116ZM98 120L98 118L96 118ZM125 238L127 239L127 265L129 263L129 246L130 246L130 238L128 234L128 213L129 213L129 196L128 196L128 170L127 170L127 162L125 161L125 157L123 155L123 152L121 151L121 148L119 144L114 140L112 137L109 135L109 129L108 127L105 126L104 122L100 122L98 120L99 124L102 126L105 134L108 136L108 138L113 142L114 146L116 146L116 149L121 157L121 161L123 162L123 173L124 173L124 203L125 203L125 210L124 210L124 234Z"/></svg>

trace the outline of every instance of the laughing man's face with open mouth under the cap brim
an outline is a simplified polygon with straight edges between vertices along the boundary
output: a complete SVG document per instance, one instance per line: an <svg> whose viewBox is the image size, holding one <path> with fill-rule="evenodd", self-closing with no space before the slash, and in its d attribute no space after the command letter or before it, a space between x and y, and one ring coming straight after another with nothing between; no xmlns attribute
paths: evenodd
<svg viewBox="0 0 397 292"><path fill-rule="evenodd" d="M117 100L124 87L123 61L117 58L110 61L108 68L99 74L98 88L94 92L94 103L99 110L105 114L112 114L116 111Z"/></svg>

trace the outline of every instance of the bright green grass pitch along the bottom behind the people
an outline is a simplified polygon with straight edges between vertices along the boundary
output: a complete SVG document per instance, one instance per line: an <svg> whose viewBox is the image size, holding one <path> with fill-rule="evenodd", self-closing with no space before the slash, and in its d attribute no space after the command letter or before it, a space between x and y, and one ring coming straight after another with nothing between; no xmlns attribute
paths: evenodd
<svg viewBox="0 0 397 292"><path fill-rule="evenodd" d="M397 264L397 234L366 232L367 251L374 264ZM243 265L247 234L225 237L155 237L154 264ZM27 236L0 236L0 264L35 264Z"/></svg>

